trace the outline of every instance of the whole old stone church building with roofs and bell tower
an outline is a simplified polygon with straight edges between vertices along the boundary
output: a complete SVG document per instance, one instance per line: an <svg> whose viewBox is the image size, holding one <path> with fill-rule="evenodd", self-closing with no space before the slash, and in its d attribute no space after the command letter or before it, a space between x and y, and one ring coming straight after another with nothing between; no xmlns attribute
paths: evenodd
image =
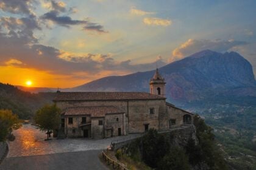
<svg viewBox="0 0 256 170"><path fill-rule="evenodd" d="M166 102L165 79L158 69L146 92L57 92L61 129L67 137L107 138L169 131L193 124L193 114Z"/></svg>

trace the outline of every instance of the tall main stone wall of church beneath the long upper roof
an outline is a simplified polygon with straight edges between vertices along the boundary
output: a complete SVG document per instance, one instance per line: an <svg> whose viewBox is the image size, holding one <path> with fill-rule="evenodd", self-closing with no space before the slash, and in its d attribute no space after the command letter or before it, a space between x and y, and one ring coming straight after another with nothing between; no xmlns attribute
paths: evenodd
<svg viewBox="0 0 256 170"><path fill-rule="evenodd" d="M166 113L165 100L115 100L115 101L59 101L61 109L76 106L116 106L126 113L124 128L127 133L141 133L145 131L145 124L150 128L159 129L159 114ZM154 114L149 109L154 107Z"/></svg>

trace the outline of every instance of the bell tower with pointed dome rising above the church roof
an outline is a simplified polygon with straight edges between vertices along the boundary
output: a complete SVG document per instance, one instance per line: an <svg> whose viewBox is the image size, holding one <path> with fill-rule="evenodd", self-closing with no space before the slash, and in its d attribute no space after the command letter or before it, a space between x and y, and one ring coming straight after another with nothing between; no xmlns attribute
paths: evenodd
<svg viewBox="0 0 256 170"><path fill-rule="evenodd" d="M151 94L161 95L165 97L165 78L162 78L158 69L155 71L154 77L151 78L149 83L149 90Z"/></svg>

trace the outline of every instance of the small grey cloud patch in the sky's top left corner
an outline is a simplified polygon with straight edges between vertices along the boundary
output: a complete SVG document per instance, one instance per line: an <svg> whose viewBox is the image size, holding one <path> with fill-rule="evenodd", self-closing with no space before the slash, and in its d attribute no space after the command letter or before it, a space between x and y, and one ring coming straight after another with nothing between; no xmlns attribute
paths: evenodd
<svg viewBox="0 0 256 170"><path fill-rule="evenodd" d="M34 0L1 0L0 9L4 12L33 15Z"/></svg>

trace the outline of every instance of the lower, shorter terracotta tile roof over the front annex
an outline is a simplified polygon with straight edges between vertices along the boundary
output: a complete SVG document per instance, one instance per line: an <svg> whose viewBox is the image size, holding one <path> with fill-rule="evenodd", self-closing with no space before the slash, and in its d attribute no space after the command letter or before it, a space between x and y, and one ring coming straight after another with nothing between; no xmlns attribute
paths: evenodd
<svg viewBox="0 0 256 170"><path fill-rule="evenodd" d="M106 114L123 114L124 111L115 106L84 106L67 107L64 115L90 115L91 117L105 117Z"/></svg>

